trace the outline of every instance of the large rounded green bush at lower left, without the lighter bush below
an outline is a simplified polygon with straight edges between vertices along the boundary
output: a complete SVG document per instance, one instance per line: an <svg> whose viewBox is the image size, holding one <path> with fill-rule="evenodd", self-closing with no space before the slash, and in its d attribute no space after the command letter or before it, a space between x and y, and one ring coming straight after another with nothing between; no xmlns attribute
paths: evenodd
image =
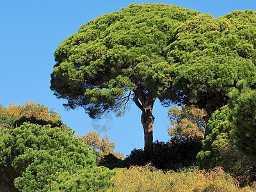
<svg viewBox="0 0 256 192"><path fill-rule="evenodd" d="M66 125L53 128L24 123L1 129L0 141L0 180L14 180L20 191L47 191L56 180L56 172L72 174L96 166L92 151L74 138Z"/></svg>

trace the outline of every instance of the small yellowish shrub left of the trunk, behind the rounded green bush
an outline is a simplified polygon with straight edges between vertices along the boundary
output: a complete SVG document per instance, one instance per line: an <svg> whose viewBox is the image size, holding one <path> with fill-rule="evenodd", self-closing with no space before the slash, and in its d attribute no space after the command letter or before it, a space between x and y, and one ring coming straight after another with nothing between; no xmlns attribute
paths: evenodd
<svg viewBox="0 0 256 192"><path fill-rule="evenodd" d="M111 143L109 141L108 134L104 134L102 137L102 132L89 131L88 134L84 136L76 136L81 138L81 141L92 148L93 154L96 156L96 161L99 163L100 159L108 154L113 154L118 159L124 159L124 154L122 152L115 152L114 148L116 143ZM100 138L102 139L100 140Z"/></svg>

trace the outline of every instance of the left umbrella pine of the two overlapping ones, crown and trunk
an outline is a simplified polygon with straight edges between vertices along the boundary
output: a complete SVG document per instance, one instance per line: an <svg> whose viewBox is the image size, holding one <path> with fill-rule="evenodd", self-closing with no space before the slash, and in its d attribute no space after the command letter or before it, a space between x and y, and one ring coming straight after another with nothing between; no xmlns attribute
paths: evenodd
<svg viewBox="0 0 256 192"><path fill-rule="evenodd" d="M175 29L199 12L167 4L131 4L81 26L55 51L51 90L92 118L124 114L130 99L141 109L145 147L152 149L156 98L175 97L164 48Z"/></svg>

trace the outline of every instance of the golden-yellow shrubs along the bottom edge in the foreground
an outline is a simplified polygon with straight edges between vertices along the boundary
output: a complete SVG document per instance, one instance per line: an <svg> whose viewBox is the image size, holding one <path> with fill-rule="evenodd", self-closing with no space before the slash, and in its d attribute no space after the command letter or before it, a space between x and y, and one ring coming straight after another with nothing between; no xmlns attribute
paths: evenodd
<svg viewBox="0 0 256 192"><path fill-rule="evenodd" d="M113 191L253 191L247 186L240 189L238 182L221 168L211 172L188 170L186 172L166 172L150 165L132 166L119 170L113 177Z"/></svg>

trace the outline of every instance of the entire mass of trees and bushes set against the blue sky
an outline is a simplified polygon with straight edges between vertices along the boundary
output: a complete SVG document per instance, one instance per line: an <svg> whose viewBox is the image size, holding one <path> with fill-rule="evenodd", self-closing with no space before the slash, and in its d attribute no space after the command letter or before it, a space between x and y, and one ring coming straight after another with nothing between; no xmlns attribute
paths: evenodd
<svg viewBox="0 0 256 192"><path fill-rule="evenodd" d="M51 90L92 118L132 100L145 148L124 159L44 105L0 105L0 191L255 191L255 23L251 10L131 4L81 26L55 51ZM166 143L153 142L156 99L182 105Z"/></svg>

